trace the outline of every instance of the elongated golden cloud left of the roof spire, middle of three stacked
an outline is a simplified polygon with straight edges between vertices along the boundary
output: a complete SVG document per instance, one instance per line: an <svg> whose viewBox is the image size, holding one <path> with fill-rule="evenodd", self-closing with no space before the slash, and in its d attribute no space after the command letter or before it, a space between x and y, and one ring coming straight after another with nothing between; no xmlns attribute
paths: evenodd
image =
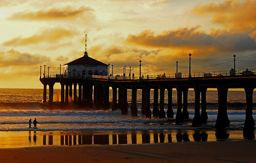
<svg viewBox="0 0 256 163"><path fill-rule="evenodd" d="M76 34L75 31L63 29L63 28L46 29L38 33L39 34L35 34L27 38L22 38L21 36L13 38L12 40L4 42L3 45L4 46L25 46L28 44L36 44L40 42L54 43L59 41L62 38L72 37Z"/></svg>

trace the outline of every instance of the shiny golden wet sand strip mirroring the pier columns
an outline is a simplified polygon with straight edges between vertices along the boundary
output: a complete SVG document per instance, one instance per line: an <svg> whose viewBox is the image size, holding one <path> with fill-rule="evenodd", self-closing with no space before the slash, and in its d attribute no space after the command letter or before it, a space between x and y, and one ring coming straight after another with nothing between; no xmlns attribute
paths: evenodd
<svg viewBox="0 0 256 163"><path fill-rule="evenodd" d="M9 133L1 137L0 147L156 144L243 139L242 131L9 131Z"/></svg>

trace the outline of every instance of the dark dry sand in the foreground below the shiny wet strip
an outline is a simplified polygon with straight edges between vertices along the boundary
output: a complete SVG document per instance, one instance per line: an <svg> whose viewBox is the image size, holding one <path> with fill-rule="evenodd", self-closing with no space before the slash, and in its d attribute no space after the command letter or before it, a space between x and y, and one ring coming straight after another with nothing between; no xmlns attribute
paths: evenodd
<svg viewBox="0 0 256 163"><path fill-rule="evenodd" d="M256 161L256 140L130 145L1 148L0 162L235 162Z"/></svg>

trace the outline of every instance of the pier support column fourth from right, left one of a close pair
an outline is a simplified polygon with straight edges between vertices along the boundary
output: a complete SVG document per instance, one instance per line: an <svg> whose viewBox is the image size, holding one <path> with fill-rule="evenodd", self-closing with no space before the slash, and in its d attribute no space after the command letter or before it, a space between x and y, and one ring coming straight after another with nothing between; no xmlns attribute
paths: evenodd
<svg viewBox="0 0 256 163"><path fill-rule="evenodd" d="M200 89L199 86L195 86L195 116L192 120L192 125L200 125L201 124L201 117L200 117Z"/></svg>

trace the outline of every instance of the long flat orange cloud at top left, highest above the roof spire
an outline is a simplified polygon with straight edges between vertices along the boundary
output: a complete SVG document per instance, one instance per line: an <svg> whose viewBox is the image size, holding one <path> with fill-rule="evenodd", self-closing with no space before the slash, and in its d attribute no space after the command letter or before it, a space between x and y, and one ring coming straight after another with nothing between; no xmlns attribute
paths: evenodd
<svg viewBox="0 0 256 163"><path fill-rule="evenodd" d="M12 14L9 18L11 20L63 20L63 19L76 19L82 17L83 19L94 18L93 9L89 7L80 7L79 9L73 9L71 6L67 6L62 9L52 8L48 11L37 12L17 12Z"/></svg>

